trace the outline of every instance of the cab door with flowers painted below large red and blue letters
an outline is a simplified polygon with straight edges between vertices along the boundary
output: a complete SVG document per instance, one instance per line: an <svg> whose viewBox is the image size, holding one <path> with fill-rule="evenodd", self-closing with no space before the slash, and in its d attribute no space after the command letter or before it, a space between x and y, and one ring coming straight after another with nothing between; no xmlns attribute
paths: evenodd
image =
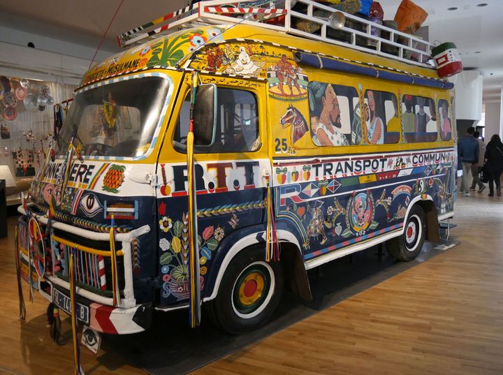
<svg viewBox="0 0 503 375"><path fill-rule="evenodd" d="M212 265L219 266L240 231L265 221L265 172L270 172L263 108L249 81L217 86L217 126L210 145L194 146L201 293ZM205 82L203 78L203 83ZM258 83L256 84L258 85ZM159 157L157 199L160 306L189 298L187 221L187 132L190 90L180 101ZM210 293L211 291L209 291Z"/></svg>

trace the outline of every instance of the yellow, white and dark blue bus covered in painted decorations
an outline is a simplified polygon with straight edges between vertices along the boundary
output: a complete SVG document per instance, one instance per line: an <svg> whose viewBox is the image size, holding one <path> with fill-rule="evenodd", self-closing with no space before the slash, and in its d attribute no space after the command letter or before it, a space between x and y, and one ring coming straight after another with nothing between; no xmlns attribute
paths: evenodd
<svg viewBox="0 0 503 375"><path fill-rule="evenodd" d="M328 40L326 19L321 34L285 33L205 3L165 17L187 15L181 30L123 34L135 43L85 74L20 207L20 277L96 332L145 330L194 289L217 325L245 332L283 288L309 300L307 270L383 242L414 259L453 216L452 84L424 52L365 51Z"/></svg>

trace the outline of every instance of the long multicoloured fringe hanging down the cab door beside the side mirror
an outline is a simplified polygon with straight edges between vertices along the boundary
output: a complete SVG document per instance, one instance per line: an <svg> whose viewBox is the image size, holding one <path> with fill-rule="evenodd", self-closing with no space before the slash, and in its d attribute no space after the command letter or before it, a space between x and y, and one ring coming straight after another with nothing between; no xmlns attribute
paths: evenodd
<svg viewBox="0 0 503 375"><path fill-rule="evenodd" d="M187 182L189 186L189 286L190 325L195 328L201 323L201 291L199 290L199 251L197 242L196 180L194 179L194 105L198 87L198 73L192 73L190 126L187 134Z"/></svg>

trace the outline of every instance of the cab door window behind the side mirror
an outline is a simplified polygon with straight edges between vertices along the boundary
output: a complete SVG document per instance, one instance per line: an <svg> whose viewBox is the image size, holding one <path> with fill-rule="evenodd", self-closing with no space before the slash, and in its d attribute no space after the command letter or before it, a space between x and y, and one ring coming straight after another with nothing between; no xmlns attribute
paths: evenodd
<svg viewBox="0 0 503 375"><path fill-rule="evenodd" d="M253 152L260 145L258 110L254 94L245 90L217 89L217 134L211 146L194 147L197 153ZM185 96L173 138L173 146L187 151L190 94Z"/></svg>

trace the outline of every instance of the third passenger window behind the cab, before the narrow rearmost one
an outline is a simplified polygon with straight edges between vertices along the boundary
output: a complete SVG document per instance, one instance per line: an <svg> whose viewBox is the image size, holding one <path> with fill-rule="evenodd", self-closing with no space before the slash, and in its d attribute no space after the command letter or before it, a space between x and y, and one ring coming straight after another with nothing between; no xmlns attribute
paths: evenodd
<svg viewBox="0 0 503 375"><path fill-rule="evenodd" d="M404 95L402 98L404 139L409 143L437 140L435 101L424 96Z"/></svg>

